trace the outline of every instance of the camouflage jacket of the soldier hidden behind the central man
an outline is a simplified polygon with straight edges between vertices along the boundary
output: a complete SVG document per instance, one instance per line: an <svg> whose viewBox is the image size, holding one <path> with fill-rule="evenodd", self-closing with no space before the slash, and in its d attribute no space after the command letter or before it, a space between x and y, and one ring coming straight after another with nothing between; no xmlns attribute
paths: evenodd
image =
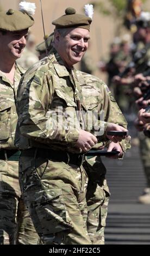
<svg viewBox="0 0 150 256"><path fill-rule="evenodd" d="M88 111L92 110L99 114L103 111L105 122L118 124L127 129L127 121L107 85L98 77L84 72L77 71L77 76L82 87L83 99ZM105 141L104 136L105 134L99 136L99 142ZM106 142L105 145L108 143ZM130 148L129 138L124 139L120 144L125 152L126 149ZM95 145L96 147L98 148L99 144Z"/></svg>

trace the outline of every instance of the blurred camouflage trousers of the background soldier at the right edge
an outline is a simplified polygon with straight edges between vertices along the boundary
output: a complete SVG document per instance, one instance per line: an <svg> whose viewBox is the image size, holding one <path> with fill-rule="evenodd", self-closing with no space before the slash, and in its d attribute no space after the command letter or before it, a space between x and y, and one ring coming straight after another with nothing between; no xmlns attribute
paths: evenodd
<svg viewBox="0 0 150 256"><path fill-rule="evenodd" d="M140 154L146 175L147 187L150 187L150 138L140 134Z"/></svg>

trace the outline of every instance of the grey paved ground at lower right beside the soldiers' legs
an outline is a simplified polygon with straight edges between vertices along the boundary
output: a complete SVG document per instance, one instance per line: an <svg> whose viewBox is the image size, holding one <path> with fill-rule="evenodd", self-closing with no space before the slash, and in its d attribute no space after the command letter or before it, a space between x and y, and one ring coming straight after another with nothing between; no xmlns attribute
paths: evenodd
<svg viewBox="0 0 150 256"><path fill-rule="evenodd" d="M145 188L145 176L139 156L139 149L132 147L124 160L108 160L107 180L111 192L106 245L150 244L150 205L137 202Z"/></svg>

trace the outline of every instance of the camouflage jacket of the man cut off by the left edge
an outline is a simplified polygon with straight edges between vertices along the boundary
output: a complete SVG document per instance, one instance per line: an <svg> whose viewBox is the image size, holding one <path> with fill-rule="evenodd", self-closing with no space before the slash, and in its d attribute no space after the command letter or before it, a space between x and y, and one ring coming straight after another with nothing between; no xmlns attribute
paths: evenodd
<svg viewBox="0 0 150 256"><path fill-rule="evenodd" d="M17 124L16 96L18 84L25 70L15 66L14 84L0 71L0 149L14 149L14 137Z"/></svg>

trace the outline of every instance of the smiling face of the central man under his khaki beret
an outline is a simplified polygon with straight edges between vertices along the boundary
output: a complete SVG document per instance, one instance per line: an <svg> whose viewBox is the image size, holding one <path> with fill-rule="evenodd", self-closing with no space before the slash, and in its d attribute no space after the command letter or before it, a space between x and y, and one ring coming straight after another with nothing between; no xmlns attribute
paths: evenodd
<svg viewBox="0 0 150 256"><path fill-rule="evenodd" d="M89 31L84 28L68 28L65 36L58 35L57 51L67 66L78 63L84 56L90 39Z"/></svg>

